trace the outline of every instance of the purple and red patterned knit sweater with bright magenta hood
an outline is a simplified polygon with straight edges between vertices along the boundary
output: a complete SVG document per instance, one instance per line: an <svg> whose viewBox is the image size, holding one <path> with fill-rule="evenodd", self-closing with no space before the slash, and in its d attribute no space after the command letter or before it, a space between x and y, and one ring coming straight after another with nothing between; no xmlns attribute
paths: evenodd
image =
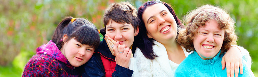
<svg viewBox="0 0 258 77"><path fill-rule="evenodd" d="M37 48L36 55L26 64L22 77L81 77L80 72L74 70L57 45L50 40Z"/></svg>

